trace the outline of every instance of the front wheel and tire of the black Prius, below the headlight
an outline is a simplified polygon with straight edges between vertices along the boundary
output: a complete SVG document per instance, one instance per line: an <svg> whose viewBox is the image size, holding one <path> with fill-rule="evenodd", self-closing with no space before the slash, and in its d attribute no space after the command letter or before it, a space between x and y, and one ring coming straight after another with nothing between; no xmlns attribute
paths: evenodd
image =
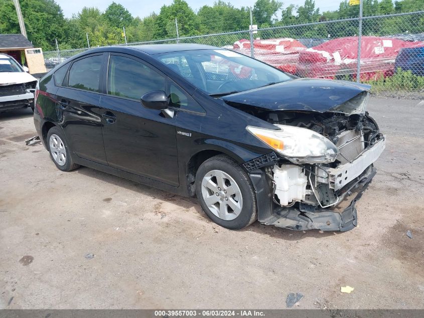
<svg viewBox="0 0 424 318"><path fill-rule="evenodd" d="M234 160L218 155L199 167L196 195L216 224L238 230L256 220L256 195L250 177Z"/></svg>

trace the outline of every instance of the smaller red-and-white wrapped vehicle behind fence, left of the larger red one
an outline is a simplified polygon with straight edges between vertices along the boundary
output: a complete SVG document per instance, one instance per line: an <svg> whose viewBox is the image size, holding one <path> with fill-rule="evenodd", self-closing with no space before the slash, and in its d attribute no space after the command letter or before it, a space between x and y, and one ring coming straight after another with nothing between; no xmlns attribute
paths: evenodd
<svg viewBox="0 0 424 318"><path fill-rule="evenodd" d="M254 40L254 56L259 61L279 68L282 71L296 73L299 52L306 46L291 38ZM233 50L250 56L250 41L241 39L234 43Z"/></svg>

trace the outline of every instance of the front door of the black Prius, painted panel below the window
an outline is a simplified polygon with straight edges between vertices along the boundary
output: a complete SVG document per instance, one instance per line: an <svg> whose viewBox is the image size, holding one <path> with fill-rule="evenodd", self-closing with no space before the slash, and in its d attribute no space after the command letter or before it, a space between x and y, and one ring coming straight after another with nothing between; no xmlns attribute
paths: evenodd
<svg viewBox="0 0 424 318"><path fill-rule="evenodd" d="M109 166L178 186L175 118L135 100L102 95L100 102Z"/></svg>

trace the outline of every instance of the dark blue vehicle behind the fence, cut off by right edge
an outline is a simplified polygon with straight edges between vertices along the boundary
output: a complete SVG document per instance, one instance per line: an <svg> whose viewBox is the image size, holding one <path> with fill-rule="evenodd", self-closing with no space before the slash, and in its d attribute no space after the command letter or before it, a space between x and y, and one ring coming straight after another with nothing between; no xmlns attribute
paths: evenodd
<svg viewBox="0 0 424 318"><path fill-rule="evenodd" d="M394 62L394 70L411 71L417 76L424 76L424 46L401 49Z"/></svg>

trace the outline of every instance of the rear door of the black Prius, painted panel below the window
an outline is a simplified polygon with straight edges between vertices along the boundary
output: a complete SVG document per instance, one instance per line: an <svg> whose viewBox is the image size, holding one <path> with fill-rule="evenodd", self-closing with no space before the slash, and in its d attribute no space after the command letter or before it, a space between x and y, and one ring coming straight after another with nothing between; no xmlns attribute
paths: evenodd
<svg viewBox="0 0 424 318"><path fill-rule="evenodd" d="M100 94L59 87L58 113L73 152L84 159L107 164L100 118Z"/></svg>

